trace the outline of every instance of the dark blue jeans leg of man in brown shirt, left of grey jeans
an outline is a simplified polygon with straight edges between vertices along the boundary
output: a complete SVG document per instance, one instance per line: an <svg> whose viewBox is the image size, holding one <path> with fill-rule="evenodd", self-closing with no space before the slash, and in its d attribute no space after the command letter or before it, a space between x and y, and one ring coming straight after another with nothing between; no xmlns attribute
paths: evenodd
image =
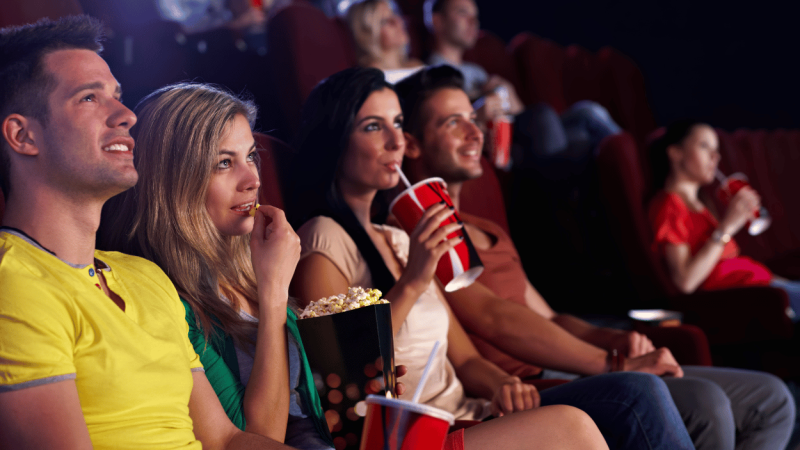
<svg viewBox="0 0 800 450"><path fill-rule="evenodd" d="M596 375L541 392L542 405L570 405L587 413L611 450L693 449L667 385L637 372Z"/></svg>

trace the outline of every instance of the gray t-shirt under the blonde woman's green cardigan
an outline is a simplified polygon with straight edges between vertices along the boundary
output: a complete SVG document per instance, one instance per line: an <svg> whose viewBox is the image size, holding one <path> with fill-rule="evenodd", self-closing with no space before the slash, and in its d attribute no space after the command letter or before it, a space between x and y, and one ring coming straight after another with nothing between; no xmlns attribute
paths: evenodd
<svg viewBox="0 0 800 450"><path fill-rule="evenodd" d="M239 315L249 322L258 322L258 319L239 311ZM253 336L255 340L255 336ZM333 450L319 436L314 421L303 413L303 405L297 386L300 383L300 347L291 333L286 333L287 350L289 352L289 422L286 424L285 444L300 450ZM253 349L244 351L236 347L236 359L239 361L239 378L247 386L250 373L253 371Z"/></svg>

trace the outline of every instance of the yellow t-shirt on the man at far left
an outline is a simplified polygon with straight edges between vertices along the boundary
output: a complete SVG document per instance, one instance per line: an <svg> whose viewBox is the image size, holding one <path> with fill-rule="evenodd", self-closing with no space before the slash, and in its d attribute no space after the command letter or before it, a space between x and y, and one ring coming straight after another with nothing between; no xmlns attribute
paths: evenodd
<svg viewBox="0 0 800 450"><path fill-rule="evenodd" d="M0 232L0 392L74 379L95 448L200 449L189 397L202 365L175 287L144 259L95 257L125 311L91 266Z"/></svg>

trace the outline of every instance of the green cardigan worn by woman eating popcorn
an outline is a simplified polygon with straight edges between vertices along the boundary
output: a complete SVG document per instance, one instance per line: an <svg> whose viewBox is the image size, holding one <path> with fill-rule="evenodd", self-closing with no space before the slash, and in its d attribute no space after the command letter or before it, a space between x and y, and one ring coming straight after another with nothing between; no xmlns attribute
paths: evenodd
<svg viewBox="0 0 800 450"><path fill-rule="evenodd" d="M233 339L223 333L223 331L214 326L214 332L211 333L210 339L207 341L203 335L203 331L197 324L194 311L192 311L189 303L181 298L183 307L186 309L186 323L189 324L189 340L194 346L194 351L200 355L200 362L203 363L203 368L206 372L206 378L211 386L214 388L217 397L219 397L222 407L228 414L234 425L239 429L244 430L244 390L245 386L239 377L239 360L236 357L236 348L233 345ZM215 321L215 319L212 318ZM303 412L308 415L313 421L320 437L324 439L331 447L333 447L333 440L331 439L328 425L325 422L325 415L322 412L322 405L319 400L319 394L314 386L314 378L311 375L311 367L308 365L308 358L306 351L303 348L303 341L300 339L300 332L297 330L297 316L294 312L286 308L286 329L292 334L295 341L297 341L300 350L300 362L302 369L300 372L300 381L297 386L297 393L300 396L300 401L303 405ZM269 405L264 407L268 408Z"/></svg>

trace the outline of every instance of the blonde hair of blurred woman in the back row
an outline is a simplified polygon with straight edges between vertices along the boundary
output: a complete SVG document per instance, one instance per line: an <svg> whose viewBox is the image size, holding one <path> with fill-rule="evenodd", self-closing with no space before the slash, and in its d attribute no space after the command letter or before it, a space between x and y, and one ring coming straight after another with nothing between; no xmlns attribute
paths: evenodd
<svg viewBox="0 0 800 450"><path fill-rule="evenodd" d="M380 42L381 24L375 14L379 3L392 6L387 0L362 0L347 8L347 25L356 43L358 65L362 67L380 61L383 54Z"/></svg>

